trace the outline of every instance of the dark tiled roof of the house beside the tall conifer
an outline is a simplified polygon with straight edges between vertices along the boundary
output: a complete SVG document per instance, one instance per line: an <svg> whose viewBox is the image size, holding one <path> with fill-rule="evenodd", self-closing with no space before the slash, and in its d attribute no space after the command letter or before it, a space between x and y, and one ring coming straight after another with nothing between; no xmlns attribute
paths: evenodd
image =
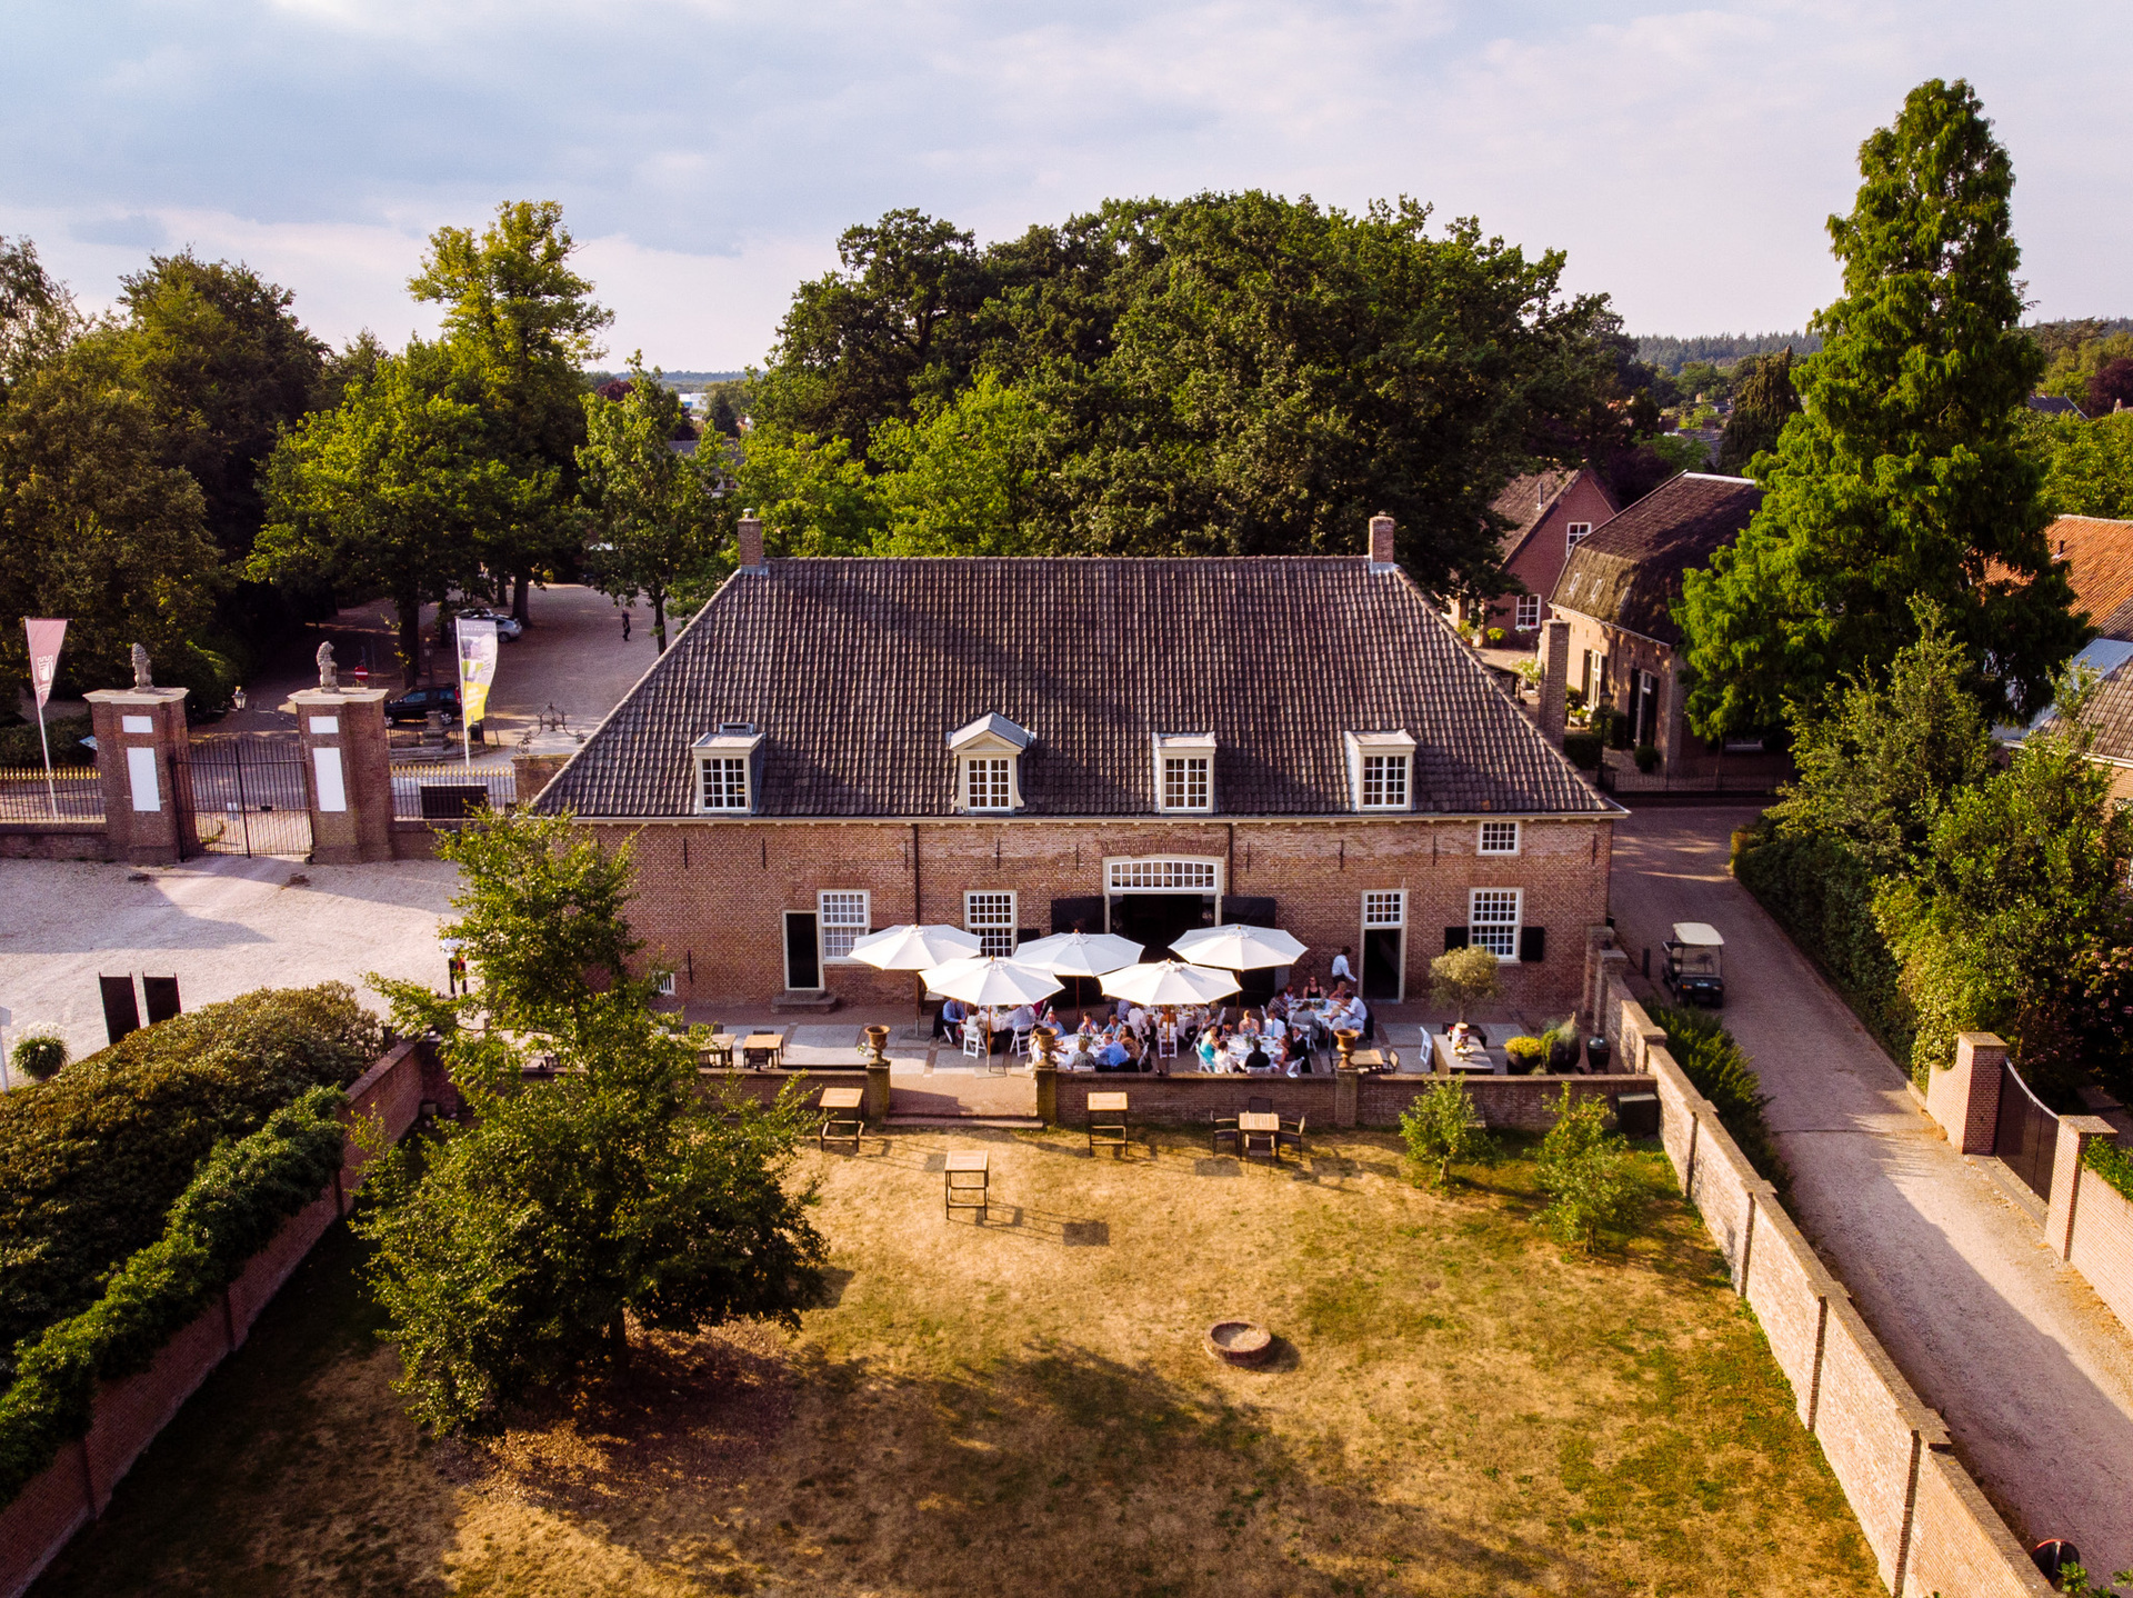
<svg viewBox="0 0 2133 1598"><path fill-rule="evenodd" d="M1668 478L1570 550L1549 604L1679 644L1670 606L1681 597L1681 574L1709 565L1760 504L1762 489L1747 478Z"/></svg>

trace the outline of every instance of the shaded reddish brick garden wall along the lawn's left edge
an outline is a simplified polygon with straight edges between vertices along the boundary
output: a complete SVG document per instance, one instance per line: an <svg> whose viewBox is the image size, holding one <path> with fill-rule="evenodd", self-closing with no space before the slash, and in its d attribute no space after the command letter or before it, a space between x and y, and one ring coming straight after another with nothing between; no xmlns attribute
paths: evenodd
<svg viewBox="0 0 2133 1598"><path fill-rule="evenodd" d="M390 1139L414 1124L422 1101L452 1105L450 1084L416 1041L388 1050L348 1090L348 1116L375 1116ZM243 1346L252 1323L294 1274L326 1229L348 1214L369 1158L354 1144L348 1161L314 1203L290 1216L273 1242L137 1376L105 1383L90 1432L0 1508L0 1598L19 1598L66 1540L111 1502L134 1459L228 1355Z"/></svg>

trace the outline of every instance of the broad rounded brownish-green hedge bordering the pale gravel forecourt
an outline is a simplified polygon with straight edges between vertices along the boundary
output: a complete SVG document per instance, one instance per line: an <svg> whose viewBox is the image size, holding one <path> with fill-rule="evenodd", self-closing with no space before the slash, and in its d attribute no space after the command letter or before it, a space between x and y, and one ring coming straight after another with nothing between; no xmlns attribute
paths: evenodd
<svg viewBox="0 0 2133 1598"><path fill-rule="evenodd" d="M132 1033L0 1094L0 1383L26 1338L79 1314L162 1235L222 1139L380 1054L350 988L260 990Z"/></svg>

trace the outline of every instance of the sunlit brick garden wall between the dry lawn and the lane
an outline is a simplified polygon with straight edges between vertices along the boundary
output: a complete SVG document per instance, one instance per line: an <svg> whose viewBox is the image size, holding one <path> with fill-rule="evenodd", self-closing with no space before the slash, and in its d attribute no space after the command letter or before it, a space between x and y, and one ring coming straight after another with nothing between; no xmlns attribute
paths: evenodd
<svg viewBox="0 0 2133 1598"><path fill-rule="evenodd" d="M1777 1203L1717 1112L1696 1092L1666 1035L1619 975L1600 981L1600 1020L1627 1043L1659 1092L1659 1137L1683 1193L1792 1383L1802 1425L1822 1444L1866 1534L1881 1581L1898 1598L2043 1598L2043 1577L1950 1453L1926 1408Z"/></svg>

